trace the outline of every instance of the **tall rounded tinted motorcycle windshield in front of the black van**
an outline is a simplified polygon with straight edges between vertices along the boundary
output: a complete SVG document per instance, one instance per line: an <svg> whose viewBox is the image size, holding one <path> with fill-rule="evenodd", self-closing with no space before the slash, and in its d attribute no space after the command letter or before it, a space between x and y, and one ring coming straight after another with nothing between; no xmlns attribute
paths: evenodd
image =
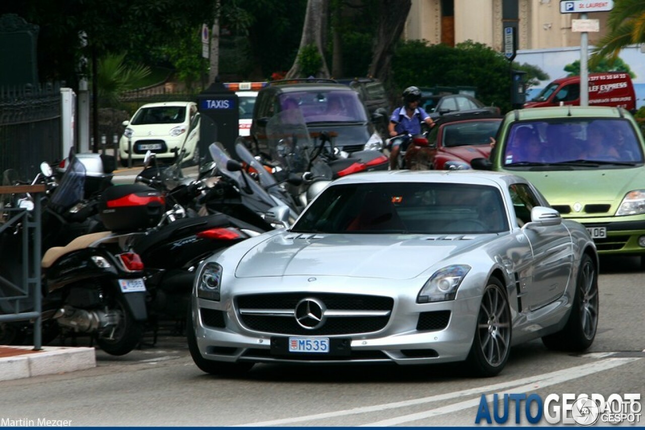
<svg viewBox="0 0 645 430"><path fill-rule="evenodd" d="M332 179L332 169L317 155L299 108L273 115L266 125L269 153L274 163L290 173L312 171L320 179Z"/></svg>

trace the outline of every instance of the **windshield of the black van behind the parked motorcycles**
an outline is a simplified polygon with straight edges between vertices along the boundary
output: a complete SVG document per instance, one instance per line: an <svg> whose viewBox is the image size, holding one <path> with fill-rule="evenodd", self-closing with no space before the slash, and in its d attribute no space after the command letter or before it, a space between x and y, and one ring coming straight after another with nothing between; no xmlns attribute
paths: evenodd
<svg viewBox="0 0 645 430"><path fill-rule="evenodd" d="M299 91L280 96L281 111L298 108L306 123L366 123L367 114L355 91Z"/></svg>

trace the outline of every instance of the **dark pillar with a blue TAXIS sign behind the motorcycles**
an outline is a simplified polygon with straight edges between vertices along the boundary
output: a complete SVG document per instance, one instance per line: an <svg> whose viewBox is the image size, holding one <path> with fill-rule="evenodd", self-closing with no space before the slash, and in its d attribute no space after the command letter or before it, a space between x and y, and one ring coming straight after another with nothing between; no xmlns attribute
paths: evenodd
<svg viewBox="0 0 645 430"><path fill-rule="evenodd" d="M239 105L237 94L228 90L219 79L197 94L199 125L199 154L205 161L212 158L208 147L221 142L230 156L235 157L235 139L239 135Z"/></svg>

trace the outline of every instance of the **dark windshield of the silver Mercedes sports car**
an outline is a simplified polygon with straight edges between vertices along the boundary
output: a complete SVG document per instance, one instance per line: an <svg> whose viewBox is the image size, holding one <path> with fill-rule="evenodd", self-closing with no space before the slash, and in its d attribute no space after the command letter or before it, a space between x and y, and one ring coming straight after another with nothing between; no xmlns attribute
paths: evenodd
<svg viewBox="0 0 645 430"><path fill-rule="evenodd" d="M293 232L497 233L508 230L499 189L457 183L332 185L304 210Z"/></svg>

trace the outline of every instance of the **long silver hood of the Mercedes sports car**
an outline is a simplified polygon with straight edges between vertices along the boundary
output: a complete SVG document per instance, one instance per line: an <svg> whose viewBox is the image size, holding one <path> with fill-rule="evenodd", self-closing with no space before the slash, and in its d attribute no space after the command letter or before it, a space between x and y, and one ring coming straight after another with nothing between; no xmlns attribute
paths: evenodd
<svg viewBox="0 0 645 430"><path fill-rule="evenodd" d="M357 276L404 280L497 237L284 232L253 246L235 276ZM461 238L462 240L455 240Z"/></svg>

